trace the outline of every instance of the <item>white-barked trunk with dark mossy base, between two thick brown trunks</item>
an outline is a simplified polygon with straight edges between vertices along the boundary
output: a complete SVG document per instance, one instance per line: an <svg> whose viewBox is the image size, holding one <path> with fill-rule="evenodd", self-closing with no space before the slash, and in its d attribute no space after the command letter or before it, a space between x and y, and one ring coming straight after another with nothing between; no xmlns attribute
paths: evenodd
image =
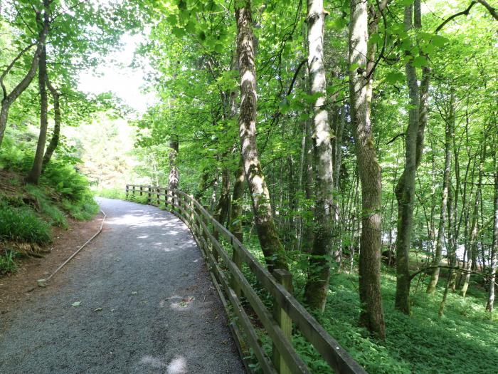
<svg viewBox="0 0 498 374"><path fill-rule="evenodd" d="M315 181L315 231L309 257L309 271L304 291L307 304L324 311L330 278L330 255L332 254L332 230L334 212L334 182L332 180L331 128L326 100L326 80L324 68L324 21L323 0L307 1L308 24L308 67L311 80L311 94L319 97L314 103L312 128L314 181Z"/></svg>

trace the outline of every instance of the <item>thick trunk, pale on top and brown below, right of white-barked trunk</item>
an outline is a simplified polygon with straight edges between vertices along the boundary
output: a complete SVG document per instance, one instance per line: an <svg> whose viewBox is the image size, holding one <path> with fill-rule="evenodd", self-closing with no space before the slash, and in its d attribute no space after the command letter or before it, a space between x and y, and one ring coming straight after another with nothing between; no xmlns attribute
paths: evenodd
<svg viewBox="0 0 498 374"><path fill-rule="evenodd" d="M370 117L372 77L367 69L367 56L371 56L372 53L368 51L368 27L366 1L351 0L349 66L358 66L358 68L349 70L349 93L351 122L361 180L360 323L369 331L385 338L386 323L383 317L381 296L382 183L381 167L378 165L373 145Z"/></svg>

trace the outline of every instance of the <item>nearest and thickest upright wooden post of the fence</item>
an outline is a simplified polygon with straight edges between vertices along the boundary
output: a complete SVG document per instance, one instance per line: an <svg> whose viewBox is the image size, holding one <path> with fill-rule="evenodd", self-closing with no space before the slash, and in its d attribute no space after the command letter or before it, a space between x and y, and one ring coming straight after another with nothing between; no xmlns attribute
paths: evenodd
<svg viewBox="0 0 498 374"><path fill-rule="evenodd" d="M290 291L292 289L292 274L290 274L289 271L284 269L277 269L274 271L273 276L275 276L277 282L279 284L282 284L282 286L284 286L287 291ZM292 343L292 319L287 313L285 313L282 307L278 305L277 301L274 301L273 303L273 317L282 329L284 336ZM277 373L290 374L291 371L285 363L285 360L278 352L275 344L273 344L272 353L272 362L277 369Z"/></svg>

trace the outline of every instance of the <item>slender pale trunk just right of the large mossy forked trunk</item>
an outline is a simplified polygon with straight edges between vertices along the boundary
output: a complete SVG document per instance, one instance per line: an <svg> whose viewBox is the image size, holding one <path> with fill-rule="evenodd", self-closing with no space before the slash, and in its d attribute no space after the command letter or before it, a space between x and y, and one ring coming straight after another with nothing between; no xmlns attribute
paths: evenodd
<svg viewBox="0 0 498 374"><path fill-rule="evenodd" d="M447 201L448 189L450 188L450 169L451 169L451 156L452 156L452 125L453 116L455 112L455 95L451 93L450 96L450 118L445 120L445 170L443 172L443 192L441 194L441 209L439 217L438 239L436 239L435 255L433 259L433 266L438 266L441 262L443 254L443 241L445 238L446 214L447 214ZM446 250L447 250L446 246ZM438 286L439 279L438 267L435 267L430 274L430 282L427 286L427 293L433 294L436 286Z"/></svg>

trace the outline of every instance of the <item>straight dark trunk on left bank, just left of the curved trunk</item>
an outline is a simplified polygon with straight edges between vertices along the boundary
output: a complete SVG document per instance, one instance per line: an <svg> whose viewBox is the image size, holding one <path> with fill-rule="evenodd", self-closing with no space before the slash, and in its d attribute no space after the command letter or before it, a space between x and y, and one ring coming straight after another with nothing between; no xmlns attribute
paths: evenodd
<svg viewBox="0 0 498 374"><path fill-rule="evenodd" d="M26 182L32 183L33 185L38 185L38 180L40 180L43 165L43 154L45 153L45 144L47 141L48 95L46 88L46 76L47 51L46 46L43 46L38 69L38 89L40 90L40 135L38 135L38 144L36 145L33 167L31 167L31 171L26 177Z"/></svg>

